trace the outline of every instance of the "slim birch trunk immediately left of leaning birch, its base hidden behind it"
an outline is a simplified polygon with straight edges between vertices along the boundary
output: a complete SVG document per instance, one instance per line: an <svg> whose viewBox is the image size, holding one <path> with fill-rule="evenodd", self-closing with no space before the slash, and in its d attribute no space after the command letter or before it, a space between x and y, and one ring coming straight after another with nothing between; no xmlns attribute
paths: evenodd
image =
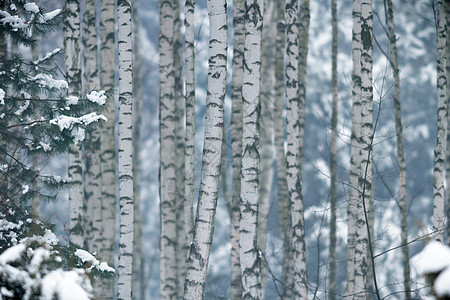
<svg viewBox="0 0 450 300"><path fill-rule="evenodd" d="M186 234L186 257L193 239L194 231L194 150L195 150L195 39L194 11L195 0L186 0L185 9L185 160L184 160L184 226ZM184 286L184 285L183 285Z"/></svg>

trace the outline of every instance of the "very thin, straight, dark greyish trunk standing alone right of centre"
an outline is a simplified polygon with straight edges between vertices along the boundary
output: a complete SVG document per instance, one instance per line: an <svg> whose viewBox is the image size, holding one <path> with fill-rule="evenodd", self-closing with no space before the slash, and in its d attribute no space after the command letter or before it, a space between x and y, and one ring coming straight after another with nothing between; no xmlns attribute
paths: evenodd
<svg viewBox="0 0 450 300"><path fill-rule="evenodd" d="M337 217L337 121L338 121L338 77L337 77L337 51L338 51L338 28L337 28L337 0L331 0L331 139L330 139L330 252L328 262L330 264L329 275L329 299L336 299L336 217Z"/></svg>

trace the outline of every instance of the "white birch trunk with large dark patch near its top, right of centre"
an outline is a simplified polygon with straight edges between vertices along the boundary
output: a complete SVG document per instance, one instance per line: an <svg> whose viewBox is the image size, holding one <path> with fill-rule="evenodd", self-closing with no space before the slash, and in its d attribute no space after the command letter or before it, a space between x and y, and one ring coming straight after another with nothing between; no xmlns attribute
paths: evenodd
<svg viewBox="0 0 450 300"><path fill-rule="evenodd" d="M356 203L355 226L355 297L368 297L367 272L371 272L368 257L369 234L367 225L368 199L371 197L372 184L372 138L373 138L373 92L372 92L372 0L361 1L361 173L358 180L359 199ZM359 82L354 82L358 85Z"/></svg>

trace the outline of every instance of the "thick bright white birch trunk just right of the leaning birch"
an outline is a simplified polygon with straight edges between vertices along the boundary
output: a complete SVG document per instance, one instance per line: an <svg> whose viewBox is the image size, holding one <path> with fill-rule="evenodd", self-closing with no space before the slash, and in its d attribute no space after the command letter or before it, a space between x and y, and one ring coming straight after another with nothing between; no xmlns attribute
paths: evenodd
<svg viewBox="0 0 450 300"><path fill-rule="evenodd" d="M258 248L259 122L261 45L264 1L246 1L244 75L242 85L243 132L241 165L241 258L242 298L261 299L261 253Z"/></svg>

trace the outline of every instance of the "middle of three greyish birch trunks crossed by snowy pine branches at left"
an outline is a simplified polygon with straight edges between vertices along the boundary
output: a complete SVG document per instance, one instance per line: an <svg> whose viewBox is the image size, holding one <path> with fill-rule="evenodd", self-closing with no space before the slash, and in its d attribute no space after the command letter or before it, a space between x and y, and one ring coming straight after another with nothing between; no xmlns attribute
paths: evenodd
<svg viewBox="0 0 450 300"><path fill-rule="evenodd" d="M96 2L87 0L83 14L83 93L100 87L97 60ZM101 169L100 129L94 128L90 138L84 141L84 197L85 197L85 245L92 252L101 245Z"/></svg>

